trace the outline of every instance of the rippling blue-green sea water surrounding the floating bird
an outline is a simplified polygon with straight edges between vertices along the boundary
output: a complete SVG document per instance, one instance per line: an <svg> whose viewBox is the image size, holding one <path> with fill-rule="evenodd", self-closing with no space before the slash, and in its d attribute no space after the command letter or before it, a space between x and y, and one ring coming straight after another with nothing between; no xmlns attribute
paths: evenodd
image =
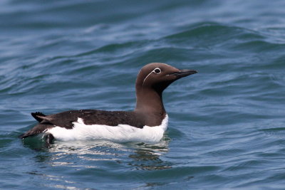
<svg viewBox="0 0 285 190"><path fill-rule="evenodd" d="M0 1L0 189L285 189L285 1ZM158 144L17 136L30 112L132 110L146 63Z"/></svg>

